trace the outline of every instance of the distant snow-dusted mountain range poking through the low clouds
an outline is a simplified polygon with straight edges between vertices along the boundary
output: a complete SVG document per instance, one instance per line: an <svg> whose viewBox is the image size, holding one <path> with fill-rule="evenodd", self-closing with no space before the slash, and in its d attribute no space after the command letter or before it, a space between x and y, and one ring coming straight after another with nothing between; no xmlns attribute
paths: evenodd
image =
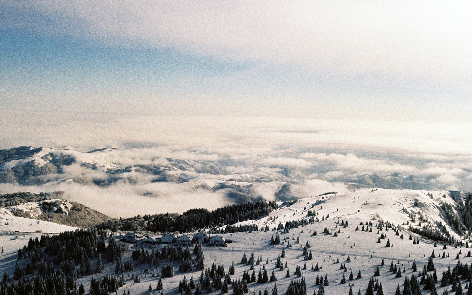
<svg viewBox="0 0 472 295"><path fill-rule="evenodd" d="M198 189L220 192L231 202L261 198L287 201L313 194L313 185L310 185L313 176L302 167L277 163L270 167L244 167L231 157L205 158L199 155L198 159L189 160L192 158L195 158L192 154L177 159L159 154L133 154L115 148L77 152L24 146L0 150L0 184L76 183L109 187L164 182L182 184L187 193ZM403 176L399 173L338 176L331 178L330 182L338 187L344 186L345 191L361 187L436 189L436 184L430 182L428 177ZM153 194L145 188L140 188L139 192L142 195Z"/></svg>

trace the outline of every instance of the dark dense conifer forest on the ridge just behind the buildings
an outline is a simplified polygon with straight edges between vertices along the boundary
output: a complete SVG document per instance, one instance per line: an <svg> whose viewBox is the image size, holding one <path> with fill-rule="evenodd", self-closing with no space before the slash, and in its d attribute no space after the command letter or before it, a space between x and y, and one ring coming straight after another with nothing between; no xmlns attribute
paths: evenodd
<svg viewBox="0 0 472 295"><path fill-rule="evenodd" d="M240 221L259 219L278 206L275 202L247 202L229 205L214 211L191 209L183 214L165 213L155 215L137 215L126 219L110 219L95 226L97 229L111 231L152 231L152 232L187 232L200 228L215 228L231 225Z"/></svg>

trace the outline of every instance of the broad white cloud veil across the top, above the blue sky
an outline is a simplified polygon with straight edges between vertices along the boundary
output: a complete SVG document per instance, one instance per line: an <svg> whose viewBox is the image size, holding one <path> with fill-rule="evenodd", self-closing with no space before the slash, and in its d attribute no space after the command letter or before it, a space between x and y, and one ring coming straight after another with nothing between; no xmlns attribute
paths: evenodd
<svg viewBox="0 0 472 295"><path fill-rule="evenodd" d="M420 76L467 86L472 23L468 2L143 2L57 0L3 4L41 11L4 24L121 46L155 46L243 61L295 64L360 75ZM8 20L5 13L5 19ZM16 14L17 16L17 14ZM64 17L67 16L67 17Z"/></svg>

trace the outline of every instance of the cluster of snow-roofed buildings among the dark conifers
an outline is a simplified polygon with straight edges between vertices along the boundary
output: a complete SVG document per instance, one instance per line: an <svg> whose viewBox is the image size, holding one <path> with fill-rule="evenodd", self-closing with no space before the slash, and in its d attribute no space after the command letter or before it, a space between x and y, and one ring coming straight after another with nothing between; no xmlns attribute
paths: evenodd
<svg viewBox="0 0 472 295"><path fill-rule="evenodd" d="M119 238L127 243L136 244L136 247L155 247L157 244L172 244L174 246L190 247L196 243L206 244L213 247L227 247L233 240L226 239L223 236L210 236L205 232L198 232L192 237L188 235L176 235L173 233L165 233L156 236L145 236L137 233L127 233L125 236Z"/></svg>

